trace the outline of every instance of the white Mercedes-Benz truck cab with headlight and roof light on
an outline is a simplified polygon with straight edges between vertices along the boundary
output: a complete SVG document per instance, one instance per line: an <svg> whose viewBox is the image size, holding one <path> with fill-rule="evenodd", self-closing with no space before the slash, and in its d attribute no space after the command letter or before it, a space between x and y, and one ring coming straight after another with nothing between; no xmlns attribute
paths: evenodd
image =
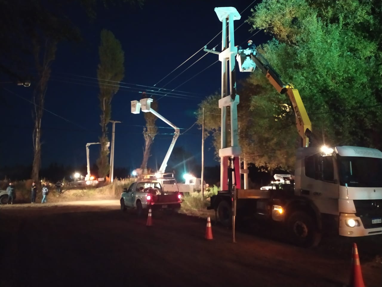
<svg viewBox="0 0 382 287"><path fill-rule="evenodd" d="M332 216L339 235L382 233L382 152L340 146L299 148L295 195Z"/></svg>

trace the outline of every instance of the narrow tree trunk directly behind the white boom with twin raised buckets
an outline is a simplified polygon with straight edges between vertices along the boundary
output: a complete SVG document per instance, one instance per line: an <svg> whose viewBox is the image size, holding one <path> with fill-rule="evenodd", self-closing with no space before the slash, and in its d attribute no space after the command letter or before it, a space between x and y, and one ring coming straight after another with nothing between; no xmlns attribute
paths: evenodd
<svg viewBox="0 0 382 287"><path fill-rule="evenodd" d="M146 93L142 93L142 99L147 98ZM151 108L154 111L158 111L158 102L152 101ZM145 145L143 148L143 159L141 164L141 169L143 173L147 173L147 161L150 157L151 145L154 142L155 135L157 135L158 127L155 126L155 121L157 120L157 116L153 113L144 113L144 118L146 120L146 127L143 128L143 138L145 141Z"/></svg>

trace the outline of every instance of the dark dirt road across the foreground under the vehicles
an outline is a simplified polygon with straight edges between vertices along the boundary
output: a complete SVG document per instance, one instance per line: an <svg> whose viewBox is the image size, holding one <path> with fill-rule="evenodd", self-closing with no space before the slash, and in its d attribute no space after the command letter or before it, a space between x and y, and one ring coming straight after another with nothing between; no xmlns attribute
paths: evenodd
<svg viewBox="0 0 382 287"><path fill-rule="evenodd" d="M146 227L118 201L3 205L0 218L2 287L339 287L350 276L351 253L241 232L231 243L231 230L215 225L207 241L204 219L157 213ZM361 264L365 284L380 287L382 264Z"/></svg>

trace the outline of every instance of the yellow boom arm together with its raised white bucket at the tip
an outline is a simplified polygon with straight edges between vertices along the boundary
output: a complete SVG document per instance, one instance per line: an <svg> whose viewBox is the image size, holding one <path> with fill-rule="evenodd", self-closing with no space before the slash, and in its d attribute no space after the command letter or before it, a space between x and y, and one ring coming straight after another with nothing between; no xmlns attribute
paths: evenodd
<svg viewBox="0 0 382 287"><path fill-rule="evenodd" d="M309 146L309 139L312 135L312 124L306 113L303 101L297 89L290 84L285 84L280 79L280 75L272 68L265 58L254 48L241 49L238 51L236 59L239 62L241 72L251 72L257 66L274 88L280 94L287 94L293 106L296 116L296 126L298 134L303 139L303 147Z"/></svg>

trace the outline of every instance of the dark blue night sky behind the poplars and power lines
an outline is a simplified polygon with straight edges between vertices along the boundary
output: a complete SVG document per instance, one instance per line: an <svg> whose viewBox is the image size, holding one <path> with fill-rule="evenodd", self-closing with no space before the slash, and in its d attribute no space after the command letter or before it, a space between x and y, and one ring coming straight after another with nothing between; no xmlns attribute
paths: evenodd
<svg viewBox="0 0 382 287"><path fill-rule="evenodd" d="M238 28L248 19L255 4L253 0L146 0L142 9L123 5L122 8L99 10L92 23L84 16L78 19L76 24L79 23L83 43L61 43L52 65L52 76L45 98L45 109L49 112L44 111L42 118L42 167L52 162L86 165L86 143L99 141L101 130L97 65L101 29L112 31L125 51L125 78L112 101L112 120L122 122L116 124L115 167L138 168L142 161L142 129L145 121L142 112L131 114L130 101L141 99L139 91L152 94L150 90L156 83L158 88L172 90L177 87L167 96L162 97L160 95L163 93L158 93L160 95L155 95L155 98L158 99L158 112L180 127L181 133L185 132L196 121L194 112L201 100L215 91L220 92L221 62L218 61L189 80L218 60L218 55L207 54L188 68L205 54L199 51L174 73L168 73L221 32L222 23L215 14L215 7L233 6L241 13L249 6L241 14L241 19L234 22L235 28ZM263 36L259 36L261 33L252 37L256 31L250 32L250 28L248 23L244 23L236 30L235 45L243 45L250 38L256 45L264 41L261 39ZM212 49L216 45L217 51L220 51L221 34L208 48ZM186 68L188 70L179 75ZM248 76L240 73L237 66L236 71L239 79ZM160 81L166 75L168 77ZM0 141L0 165L30 165L33 161L33 121L32 105L28 100L32 99L33 83L29 88L14 84L2 87L7 91L2 91L6 108L2 109L5 125L2 127ZM162 163L174 131L159 119L156 123L161 128L152 145L152 156L149 159L149 167L152 168ZM110 139L111 130L112 124L109 124ZM181 134L175 146L183 146L201 163L201 130L196 125ZM211 148L211 140L207 139L206 166L218 164ZM99 145L92 145L91 165L98 156Z"/></svg>

